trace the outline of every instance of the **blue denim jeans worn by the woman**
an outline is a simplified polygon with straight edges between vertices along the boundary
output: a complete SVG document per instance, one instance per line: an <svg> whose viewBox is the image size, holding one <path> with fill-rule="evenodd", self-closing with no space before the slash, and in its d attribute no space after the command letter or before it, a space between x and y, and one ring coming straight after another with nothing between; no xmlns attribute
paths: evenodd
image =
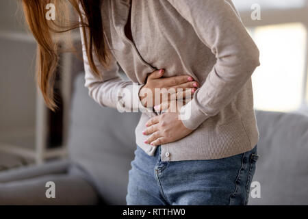
<svg viewBox="0 0 308 219"><path fill-rule="evenodd" d="M137 146L129 170L127 205L246 205L257 146L232 157L162 162Z"/></svg>

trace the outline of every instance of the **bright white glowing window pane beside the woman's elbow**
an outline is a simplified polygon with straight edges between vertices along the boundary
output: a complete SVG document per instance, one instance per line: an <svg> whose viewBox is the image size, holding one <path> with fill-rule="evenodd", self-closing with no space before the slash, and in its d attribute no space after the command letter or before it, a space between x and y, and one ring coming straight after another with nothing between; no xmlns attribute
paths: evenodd
<svg viewBox="0 0 308 219"><path fill-rule="evenodd" d="M261 66L253 73L255 108L289 112L303 99L307 31L301 23L251 30Z"/></svg>

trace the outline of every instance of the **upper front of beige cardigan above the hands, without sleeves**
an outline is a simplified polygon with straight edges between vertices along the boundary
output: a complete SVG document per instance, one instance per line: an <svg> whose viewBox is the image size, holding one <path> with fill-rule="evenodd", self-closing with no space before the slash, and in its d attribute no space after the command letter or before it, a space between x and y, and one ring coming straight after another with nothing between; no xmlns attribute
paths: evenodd
<svg viewBox="0 0 308 219"><path fill-rule="evenodd" d="M133 42L127 38L129 33L125 34L130 0L105 0L103 7L110 46L133 82L144 83L147 73L164 68L166 77L191 75L202 84L216 63L215 55L168 1L131 2ZM127 57L129 53L131 57Z"/></svg>

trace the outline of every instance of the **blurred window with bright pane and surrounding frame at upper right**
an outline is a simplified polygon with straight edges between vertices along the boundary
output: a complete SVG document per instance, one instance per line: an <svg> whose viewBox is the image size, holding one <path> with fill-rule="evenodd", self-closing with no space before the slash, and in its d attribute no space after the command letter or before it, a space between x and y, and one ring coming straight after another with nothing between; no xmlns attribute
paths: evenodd
<svg viewBox="0 0 308 219"><path fill-rule="evenodd" d="M308 0L233 0L260 50L253 74L255 108L290 112L308 109ZM253 4L261 20L253 20Z"/></svg>

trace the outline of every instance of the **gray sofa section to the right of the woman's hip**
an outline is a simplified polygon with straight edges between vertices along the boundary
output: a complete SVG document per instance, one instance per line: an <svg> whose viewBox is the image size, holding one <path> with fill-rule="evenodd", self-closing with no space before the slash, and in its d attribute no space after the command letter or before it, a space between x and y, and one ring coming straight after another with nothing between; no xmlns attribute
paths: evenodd
<svg viewBox="0 0 308 219"><path fill-rule="evenodd" d="M260 155L253 181L261 198L249 205L308 204L308 117L295 113L257 111Z"/></svg>

